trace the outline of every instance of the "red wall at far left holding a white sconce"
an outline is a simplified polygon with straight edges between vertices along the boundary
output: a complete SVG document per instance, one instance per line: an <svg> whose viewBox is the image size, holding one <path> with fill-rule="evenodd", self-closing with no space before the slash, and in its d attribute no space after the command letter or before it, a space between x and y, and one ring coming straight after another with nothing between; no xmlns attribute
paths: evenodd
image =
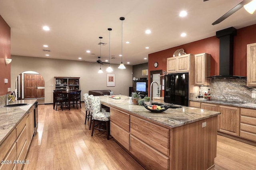
<svg viewBox="0 0 256 170"><path fill-rule="evenodd" d="M6 95L7 88L11 87L11 64L6 65L6 58L11 58L11 29L0 16L0 96ZM4 83L8 79L8 83Z"/></svg>

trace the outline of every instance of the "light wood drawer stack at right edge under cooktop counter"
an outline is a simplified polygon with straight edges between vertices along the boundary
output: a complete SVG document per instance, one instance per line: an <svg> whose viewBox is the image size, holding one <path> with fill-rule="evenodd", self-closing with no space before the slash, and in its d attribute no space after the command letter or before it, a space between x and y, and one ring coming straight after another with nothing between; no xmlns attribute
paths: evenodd
<svg viewBox="0 0 256 170"><path fill-rule="evenodd" d="M240 109L240 137L256 141L256 110Z"/></svg>

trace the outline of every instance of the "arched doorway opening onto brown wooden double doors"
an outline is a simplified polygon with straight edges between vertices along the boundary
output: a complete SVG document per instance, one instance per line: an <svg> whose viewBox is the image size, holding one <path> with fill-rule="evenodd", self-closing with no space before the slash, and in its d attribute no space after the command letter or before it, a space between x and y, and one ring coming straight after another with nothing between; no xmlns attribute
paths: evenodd
<svg viewBox="0 0 256 170"><path fill-rule="evenodd" d="M37 99L44 104L44 78L35 71L24 71L15 82L16 100Z"/></svg>

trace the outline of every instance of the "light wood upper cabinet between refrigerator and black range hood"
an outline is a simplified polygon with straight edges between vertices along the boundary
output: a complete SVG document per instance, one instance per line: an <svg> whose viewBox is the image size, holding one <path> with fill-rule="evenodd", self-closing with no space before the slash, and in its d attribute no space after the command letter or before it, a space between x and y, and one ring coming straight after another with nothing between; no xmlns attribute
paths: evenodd
<svg viewBox="0 0 256 170"><path fill-rule="evenodd" d="M210 58L208 53L201 53L195 55L195 85L209 85L210 79Z"/></svg>

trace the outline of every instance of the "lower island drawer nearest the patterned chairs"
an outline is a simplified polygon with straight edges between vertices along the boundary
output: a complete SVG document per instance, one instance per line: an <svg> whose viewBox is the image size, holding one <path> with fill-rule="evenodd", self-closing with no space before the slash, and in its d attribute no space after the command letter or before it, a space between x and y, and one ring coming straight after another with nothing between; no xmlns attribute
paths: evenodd
<svg viewBox="0 0 256 170"><path fill-rule="evenodd" d="M110 122L110 134L111 136L116 139L120 144L122 144L122 146L124 146L124 148L126 148L127 150L129 150L129 138L130 138L130 134L128 132L126 132L125 130L123 130L122 128L118 127L118 125L116 125L113 122Z"/></svg>

